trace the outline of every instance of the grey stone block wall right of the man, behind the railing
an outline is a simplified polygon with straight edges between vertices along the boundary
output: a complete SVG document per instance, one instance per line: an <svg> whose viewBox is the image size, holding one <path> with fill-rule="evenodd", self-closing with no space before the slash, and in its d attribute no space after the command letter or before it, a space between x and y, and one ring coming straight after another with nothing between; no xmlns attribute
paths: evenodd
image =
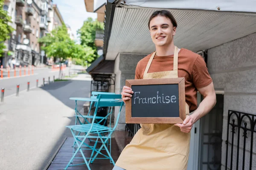
<svg viewBox="0 0 256 170"><path fill-rule="evenodd" d="M215 89L224 89L224 119L222 131L221 169L226 162L227 115L228 110L256 114L256 33L242 37L208 50L208 69ZM231 133L230 133L231 134ZM243 133L234 136L235 145L240 138L239 164L242 161ZM250 135L247 133L250 141ZM256 133L254 133L256 136ZM230 138L231 139L231 138ZM230 141L229 141L230 142ZM233 148L234 152L237 146ZM249 169L249 148L246 147L245 169ZM236 169L236 153L233 153L233 169ZM256 144L254 140L253 158L256 159ZM228 154L230 158L230 152ZM228 166L229 167L229 166ZM241 165L239 165L240 169ZM253 162L256 168L256 162Z"/></svg>

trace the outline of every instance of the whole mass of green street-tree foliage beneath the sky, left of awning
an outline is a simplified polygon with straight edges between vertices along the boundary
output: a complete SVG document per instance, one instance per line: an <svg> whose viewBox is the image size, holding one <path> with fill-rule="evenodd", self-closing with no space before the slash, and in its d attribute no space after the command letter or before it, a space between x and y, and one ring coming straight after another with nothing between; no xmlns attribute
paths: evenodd
<svg viewBox="0 0 256 170"><path fill-rule="evenodd" d="M63 26L52 30L38 40L42 49L48 56L56 58L73 58L78 65L92 63L98 56L97 48L94 44L96 29L103 29L103 23L93 21L88 18L84 25L79 29L81 44L76 44L67 34L67 27Z"/></svg>

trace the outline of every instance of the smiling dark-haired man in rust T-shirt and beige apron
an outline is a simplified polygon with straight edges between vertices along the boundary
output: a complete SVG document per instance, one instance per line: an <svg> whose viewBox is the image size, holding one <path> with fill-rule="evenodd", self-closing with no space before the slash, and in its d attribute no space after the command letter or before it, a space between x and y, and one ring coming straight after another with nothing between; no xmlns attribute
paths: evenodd
<svg viewBox="0 0 256 170"><path fill-rule="evenodd" d="M184 77L186 119L182 124L175 125L141 124L113 170L186 170L190 130L214 107L214 86L204 59L174 45L177 23L169 11L155 11L148 21L148 28L156 51L138 62L135 79ZM197 91L204 96L198 108ZM131 99L132 94L131 88L123 87L123 101Z"/></svg>

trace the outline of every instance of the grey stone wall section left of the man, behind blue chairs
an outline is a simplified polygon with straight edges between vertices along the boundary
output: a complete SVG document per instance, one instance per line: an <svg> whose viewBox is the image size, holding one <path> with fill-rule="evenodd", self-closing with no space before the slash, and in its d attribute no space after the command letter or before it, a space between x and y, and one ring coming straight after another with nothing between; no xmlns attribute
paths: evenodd
<svg viewBox="0 0 256 170"><path fill-rule="evenodd" d="M118 54L115 60L114 68L114 72L116 74L116 94L121 94L126 79L134 79L137 63L140 61L140 59L143 59L147 55L148 54ZM114 122L116 122L118 111L119 110L116 109ZM125 130L125 105L123 106L122 111L120 113L117 130Z"/></svg>

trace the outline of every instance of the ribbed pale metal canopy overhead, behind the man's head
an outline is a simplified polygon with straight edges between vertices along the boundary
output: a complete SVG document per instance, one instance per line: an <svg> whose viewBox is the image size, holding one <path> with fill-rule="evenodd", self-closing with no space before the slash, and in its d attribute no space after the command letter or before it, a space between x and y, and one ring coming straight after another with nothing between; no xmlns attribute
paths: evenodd
<svg viewBox="0 0 256 170"><path fill-rule="evenodd" d="M166 0L160 1L167 2ZM145 6L149 2L159 6L160 1L148 0L140 6ZM186 4L184 1L186 0L183 0L182 4ZM119 6L116 6L105 59L114 60L120 52L150 54L155 50L148 30L148 19L158 8L132 6L135 2L137 1L128 0L125 1L125 4L119 3ZM140 2L142 1L140 0ZM169 2L181 3L181 1L175 0ZM168 7L169 3L163 4ZM250 1L250 4L253 4L253 1ZM175 45L194 52L213 48L256 32L255 13L192 9L168 10L177 20Z"/></svg>

